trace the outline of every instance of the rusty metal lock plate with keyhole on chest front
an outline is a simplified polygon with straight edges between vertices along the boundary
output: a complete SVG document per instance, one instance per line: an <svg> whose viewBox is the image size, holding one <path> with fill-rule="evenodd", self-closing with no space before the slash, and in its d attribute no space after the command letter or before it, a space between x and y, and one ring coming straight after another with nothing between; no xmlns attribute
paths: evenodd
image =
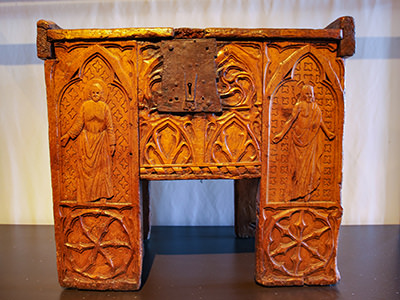
<svg viewBox="0 0 400 300"><path fill-rule="evenodd" d="M163 70L160 112L222 111L217 91L215 39L184 39L161 42Z"/></svg>

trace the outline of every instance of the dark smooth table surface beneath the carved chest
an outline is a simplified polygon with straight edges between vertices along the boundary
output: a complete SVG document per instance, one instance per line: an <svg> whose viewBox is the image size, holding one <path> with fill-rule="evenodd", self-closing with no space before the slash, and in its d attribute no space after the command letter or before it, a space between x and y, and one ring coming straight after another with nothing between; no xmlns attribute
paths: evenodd
<svg viewBox="0 0 400 300"><path fill-rule="evenodd" d="M139 291L63 289L53 226L0 225L0 300L400 299L400 225L342 226L332 286L257 285L254 239L233 227L153 227L145 251Z"/></svg>

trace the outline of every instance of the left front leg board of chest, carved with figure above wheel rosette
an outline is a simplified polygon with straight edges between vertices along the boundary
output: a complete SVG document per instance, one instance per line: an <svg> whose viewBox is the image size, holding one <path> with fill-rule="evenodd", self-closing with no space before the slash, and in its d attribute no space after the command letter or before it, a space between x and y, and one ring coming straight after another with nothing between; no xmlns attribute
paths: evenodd
<svg viewBox="0 0 400 300"><path fill-rule="evenodd" d="M140 286L137 96L130 77L136 50L136 42L55 43L58 60L46 61L62 286Z"/></svg>

